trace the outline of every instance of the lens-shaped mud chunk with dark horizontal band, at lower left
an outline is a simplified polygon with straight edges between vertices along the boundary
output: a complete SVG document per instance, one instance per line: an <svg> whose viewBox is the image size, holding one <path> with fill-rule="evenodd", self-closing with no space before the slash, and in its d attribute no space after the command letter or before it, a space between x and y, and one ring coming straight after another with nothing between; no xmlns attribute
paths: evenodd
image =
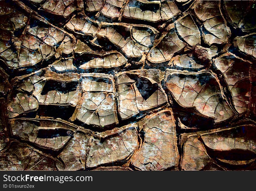
<svg viewBox="0 0 256 191"><path fill-rule="evenodd" d="M76 127L51 119L11 119L11 133L46 149L59 150L70 140Z"/></svg>

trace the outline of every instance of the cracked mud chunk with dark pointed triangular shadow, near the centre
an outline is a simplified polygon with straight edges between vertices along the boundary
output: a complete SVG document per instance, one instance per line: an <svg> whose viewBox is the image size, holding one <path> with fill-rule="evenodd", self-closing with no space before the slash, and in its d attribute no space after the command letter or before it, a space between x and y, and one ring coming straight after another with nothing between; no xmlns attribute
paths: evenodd
<svg viewBox="0 0 256 191"><path fill-rule="evenodd" d="M162 87L153 79L133 72L120 72L118 84L118 112L127 119L141 111L158 108L167 103Z"/></svg>

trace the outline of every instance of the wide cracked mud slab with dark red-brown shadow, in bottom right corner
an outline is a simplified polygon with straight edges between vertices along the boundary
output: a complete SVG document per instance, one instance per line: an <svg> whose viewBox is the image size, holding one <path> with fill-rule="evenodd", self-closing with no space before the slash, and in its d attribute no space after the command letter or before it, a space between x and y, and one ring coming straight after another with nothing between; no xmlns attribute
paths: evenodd
<svg viewBox="0 0 256 191"><path fill-rule="evenodd" d="M255 161L253 125L243 125L192 135L182 134L183 170L223 170L219 165L233 168ZM219 164L219 165L218 165Z"/></svg>

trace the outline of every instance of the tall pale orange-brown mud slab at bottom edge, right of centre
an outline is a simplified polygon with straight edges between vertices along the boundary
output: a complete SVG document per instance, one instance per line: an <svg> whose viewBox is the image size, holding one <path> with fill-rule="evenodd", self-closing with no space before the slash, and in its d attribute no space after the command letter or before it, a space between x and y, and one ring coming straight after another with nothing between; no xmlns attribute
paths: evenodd
<svg viewBox="0 0 256 191"><path fill-rule="evenodd" d="M172 110L162 110L148 118L143 124L144 142L132 157L132 165L140 170L174 168L179 154Z"/></svg>

